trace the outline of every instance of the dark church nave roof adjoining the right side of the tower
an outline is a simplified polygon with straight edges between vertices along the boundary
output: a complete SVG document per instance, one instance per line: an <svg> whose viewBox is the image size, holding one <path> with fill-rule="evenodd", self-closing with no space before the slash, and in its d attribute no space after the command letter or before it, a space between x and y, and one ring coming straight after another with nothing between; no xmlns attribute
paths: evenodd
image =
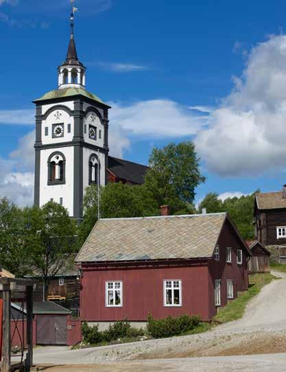
<svg viewBox="0 0 286 372"><path fill-rule="evenodd" d="M108 170L120 180L141 185L144 183L144 175L149 167L132 161L108 156Z"/></svg>

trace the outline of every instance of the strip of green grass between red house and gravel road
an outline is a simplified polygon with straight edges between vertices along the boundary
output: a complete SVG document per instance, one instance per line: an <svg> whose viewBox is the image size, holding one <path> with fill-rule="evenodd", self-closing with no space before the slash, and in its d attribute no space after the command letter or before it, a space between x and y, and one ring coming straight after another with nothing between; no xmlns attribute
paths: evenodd
<svg viewBox="0 0 286 372"><path fill-rule="evenodd" d="M241 318L246 310L246 305L248 302L254 296L259 294L263 286L270 283L274 279L278 278L274 277L274 275L270 274L269 272L250 275L248 290L241 292L237 299L219 309L219 312L214 316L213 321L217 323L226 323L236 321L237 319Z"/></svg>

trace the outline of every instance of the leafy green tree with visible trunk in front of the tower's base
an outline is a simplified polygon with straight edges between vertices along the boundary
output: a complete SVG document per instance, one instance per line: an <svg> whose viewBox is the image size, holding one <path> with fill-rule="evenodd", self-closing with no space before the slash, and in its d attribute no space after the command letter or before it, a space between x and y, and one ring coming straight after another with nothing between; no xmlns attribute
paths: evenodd
<svg viewBox="0 0 286 372"><path fill-rule="evenodd" d="M69 218L67 209L51 201L42 208L27 209L26 213L27 234L34 236L29 256L34 270L42 278L47 298L49 282L71 254L76 253L75 221Z"/></svg>

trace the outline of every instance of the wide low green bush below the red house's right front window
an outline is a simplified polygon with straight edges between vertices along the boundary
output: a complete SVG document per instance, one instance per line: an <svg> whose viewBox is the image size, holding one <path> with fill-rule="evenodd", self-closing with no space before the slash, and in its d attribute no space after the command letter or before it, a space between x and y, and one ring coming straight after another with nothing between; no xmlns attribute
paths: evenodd
<svg viewBox="0 0 286 372"><path fill-rule="evenodd" d="M155 320L149 315L147 331L154 338L171 337L192 331L199 323L199 316L182 315L178 316L178 318L167 316L165 319Z"/></svg>

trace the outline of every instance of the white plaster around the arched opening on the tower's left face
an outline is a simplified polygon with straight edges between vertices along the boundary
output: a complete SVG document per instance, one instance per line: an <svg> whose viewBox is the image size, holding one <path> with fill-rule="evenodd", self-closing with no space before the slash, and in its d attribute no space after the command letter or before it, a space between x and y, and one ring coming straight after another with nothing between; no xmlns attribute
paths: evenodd
<svg viewBox="0 0 286 372"><path fill-rule="evenodd" d="M66 183L64 185L47 185L49 155L54 151L60 151L66 158ZM60 202L69 211L69 216L73 216L73 147L49 149L40 151L40 206L53 198L54 202Z"/></svg>

